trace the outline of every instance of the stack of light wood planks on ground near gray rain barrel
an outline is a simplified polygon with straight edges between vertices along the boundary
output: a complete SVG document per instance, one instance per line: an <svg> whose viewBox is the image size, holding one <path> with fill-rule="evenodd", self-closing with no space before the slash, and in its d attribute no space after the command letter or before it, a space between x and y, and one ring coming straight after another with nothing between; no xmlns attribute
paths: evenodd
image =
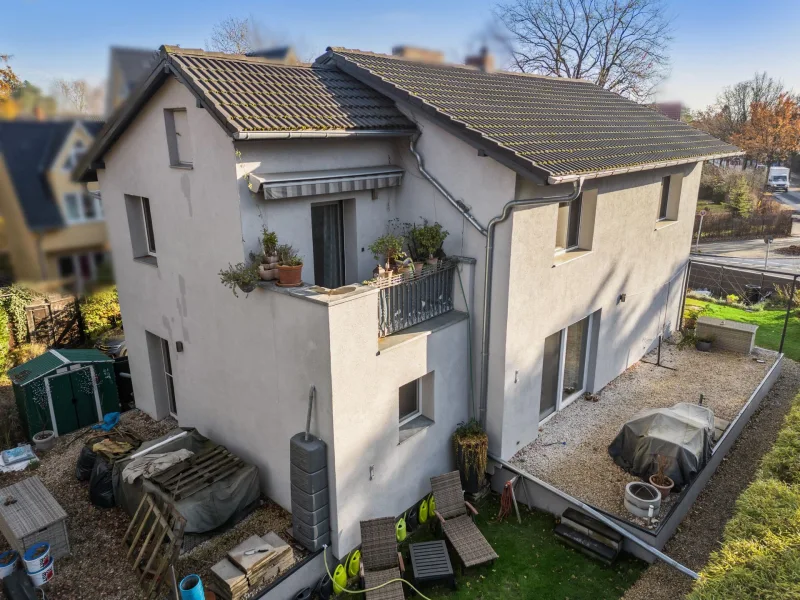
<svg viewBox="0 0 800 600"><path fill-rule="evenodd" d="M266 552L246 555L248 550ZM222 600L240 600L261 589L294 564L292 548L274 532L251 536L211 567L209 587Z"/></svg>

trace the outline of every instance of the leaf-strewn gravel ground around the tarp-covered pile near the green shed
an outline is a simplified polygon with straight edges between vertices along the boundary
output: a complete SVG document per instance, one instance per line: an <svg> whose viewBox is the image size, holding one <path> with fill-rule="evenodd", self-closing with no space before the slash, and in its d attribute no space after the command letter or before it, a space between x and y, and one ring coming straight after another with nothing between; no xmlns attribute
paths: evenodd
<svg viewBox="0 0 800 600"><path fill-rule="evenodd" d="M2 397L0 391L0 401ZM162 436L177 426L172 419L154 421L139 410L124 413L121 425L143 440ZM87 433L88 430L83 430L58 438L55 448L41 457L41 465L35 472L0 473L0 488L37 475L67 512L72 556L56 561L56 575L48 584L48 598L141 600L145 595L139 587L138 576L125 558L127 550L122 543L130 518L121 508L93 506L89 502L88 482L75 478L75 463L82 445L78 438ZM268 531L287 539L285 532L290 526L291 516L280 506L266 501L230 531L182 556L176 567L178 577L190 573L207 577L210 567L235 544ZM0 536L0 552L7 549L5 539ZM295 556L301 555L296 549Z"/></svg>

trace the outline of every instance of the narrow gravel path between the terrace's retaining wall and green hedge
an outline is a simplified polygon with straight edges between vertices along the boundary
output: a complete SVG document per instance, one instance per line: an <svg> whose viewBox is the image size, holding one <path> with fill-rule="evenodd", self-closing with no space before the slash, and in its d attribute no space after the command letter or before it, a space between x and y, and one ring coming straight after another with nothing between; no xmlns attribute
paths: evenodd
<svg viewBox="0 0 800 600"><path fill-rule="evenodd" d="M705 566L711 552L719 547L736 499L753 481L761 457L775 442L798 391L800 363L785 359L781 377L667 543L667 555L694 571ZM691 586L688 577L656 563L642 574L623 600L674 600L686 596Z"/></svg>

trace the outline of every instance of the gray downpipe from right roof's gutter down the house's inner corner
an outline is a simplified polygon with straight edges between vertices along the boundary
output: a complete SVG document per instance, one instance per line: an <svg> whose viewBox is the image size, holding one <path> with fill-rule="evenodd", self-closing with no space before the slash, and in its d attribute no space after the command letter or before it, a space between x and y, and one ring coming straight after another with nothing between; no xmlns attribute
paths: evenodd
<svg viewBox="0 0 800 600"><path fill-rule="evenodd" d="M489 396L489 333L491 328L492 316L492 274L494 260L494 235L497 225L502 223L514 211L515 208L530 208L534 206L547 206L549 204L560 204L562 202L572 202L581 195L583 190L583 177L572 182L572 191L568 194L557 196L544 196L541 198L529 198L522 200L511 200L503 207L503 212L489 221L486 235L486 261L484 264L483 276L483 337L481 340L481 398L478 419L483 429L486 429L486 406Z"/></svg>

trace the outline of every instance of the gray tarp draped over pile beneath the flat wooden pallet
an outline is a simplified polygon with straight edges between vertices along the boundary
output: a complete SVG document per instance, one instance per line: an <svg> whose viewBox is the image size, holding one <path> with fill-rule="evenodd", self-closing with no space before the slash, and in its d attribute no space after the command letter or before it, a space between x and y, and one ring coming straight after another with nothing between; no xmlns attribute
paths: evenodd
<svg viewBox="0 0 800 600"><path fill-rule="evenodd" d="M175 429L165 436L145 442L137 452L182 431L184 430ZM159 446L154 452L174 452L185 448L199 454L214 445L211 440L200 435L197 430L191 429L188 435ZM144 492L149 492L160 500L171 502L168 495L164 494L155 484L143 480L141 477L132 484L125 483L122 480L122 470L130 462L130 459L126 459L114 464L114 498L118 506L124 508L132 516L136 512ZM174 504L175 509L186 519L186 533L204 533L221 527L231 518L241 514L258 500L260 493L258 469L253 465L245 465L232 475Z"/></svg>

